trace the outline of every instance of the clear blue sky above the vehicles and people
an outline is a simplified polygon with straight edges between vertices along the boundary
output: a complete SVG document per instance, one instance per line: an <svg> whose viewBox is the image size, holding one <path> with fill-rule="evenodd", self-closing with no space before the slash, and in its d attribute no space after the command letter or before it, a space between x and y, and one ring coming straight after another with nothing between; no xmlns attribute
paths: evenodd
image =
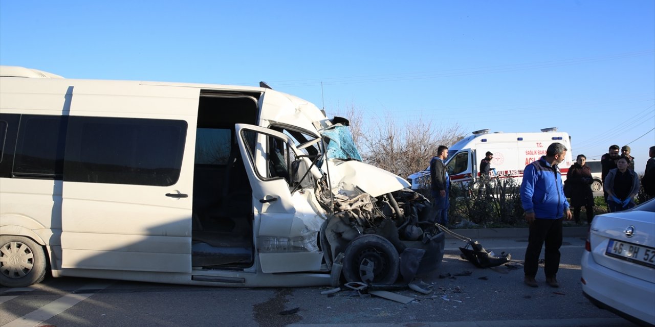
<svg viewBox="0 0 655 327"><path fill-rule="evenodd" d="M655 145L655 1L0 0L0 64L257 85L369 122ZM323 87L321 87L321 82ZM636 140L636 141L635 141Z"/></svg>

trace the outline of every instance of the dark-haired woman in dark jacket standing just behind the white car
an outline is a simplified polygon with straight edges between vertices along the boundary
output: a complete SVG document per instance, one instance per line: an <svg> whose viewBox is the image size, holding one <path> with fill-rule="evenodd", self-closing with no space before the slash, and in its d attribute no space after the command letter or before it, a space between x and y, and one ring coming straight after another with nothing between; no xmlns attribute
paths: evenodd
<svg viewBox="0 0 655 327"><path fill-rule="evenodd" d="M639 177L627 168L629 159L621 156L616 161L616 168L610 169L603 184L607 192L607 207L610 213L622 211L635 206L634 197L639 193Z"/></svg>

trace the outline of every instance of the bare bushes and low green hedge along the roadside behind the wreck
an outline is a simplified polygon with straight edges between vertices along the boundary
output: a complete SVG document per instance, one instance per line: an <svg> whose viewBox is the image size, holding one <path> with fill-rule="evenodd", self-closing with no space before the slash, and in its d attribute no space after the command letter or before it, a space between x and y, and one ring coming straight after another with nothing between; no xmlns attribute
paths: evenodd
<svg viewBox="0 0 655 327"><path fill-rule="evenodd" d="M350 131L364 162L405 178L425 169L438 146L451 146L468 134L457 124L435 126L432 120L401 125L388 114L365 123L361 112L356 111L353 105L345 111L337 111L336 115L350 120ZM428 186L419 192L432 201ZM458 228L527 226L519 196L520 184L513 179L493 177L489 186L491 192L479 180L466 186L453 184L449 209L451 224ZM642 188L635 201L641 203L646 199ZM594 198L593 211L595 215L607 213L603 196ZM580 212L580 220L587 221L584 208Z"/></svg>

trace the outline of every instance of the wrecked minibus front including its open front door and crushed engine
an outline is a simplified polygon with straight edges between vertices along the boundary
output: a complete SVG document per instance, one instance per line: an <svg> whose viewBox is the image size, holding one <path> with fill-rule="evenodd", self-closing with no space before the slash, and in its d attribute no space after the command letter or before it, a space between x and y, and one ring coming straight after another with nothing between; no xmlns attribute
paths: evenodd
<svg viewBox="0 0 655 327"><path fill-rule="evenodd" d="M299 112L295 118L307 118ZM265 187L251 182L263 273L329 273L333 285L393 284L440 266L444 233L430 202L401 177L362 162L347 120L275 118L269 128L236 126L244 162L269 179ZM268 158L253 160L259 156Z"/></svg>

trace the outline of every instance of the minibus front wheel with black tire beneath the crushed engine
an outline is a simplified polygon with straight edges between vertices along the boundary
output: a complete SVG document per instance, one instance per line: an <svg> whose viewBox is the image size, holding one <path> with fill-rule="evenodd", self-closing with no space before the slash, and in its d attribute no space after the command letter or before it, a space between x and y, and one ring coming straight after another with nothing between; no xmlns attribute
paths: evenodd
<svg viewBox="0 0 655 327"><path fill-rule="evenodd" d="M393 284L398 279L400 256L390 241L365 234L348 243L343 257L343 277L348 282Z"/></svg>

